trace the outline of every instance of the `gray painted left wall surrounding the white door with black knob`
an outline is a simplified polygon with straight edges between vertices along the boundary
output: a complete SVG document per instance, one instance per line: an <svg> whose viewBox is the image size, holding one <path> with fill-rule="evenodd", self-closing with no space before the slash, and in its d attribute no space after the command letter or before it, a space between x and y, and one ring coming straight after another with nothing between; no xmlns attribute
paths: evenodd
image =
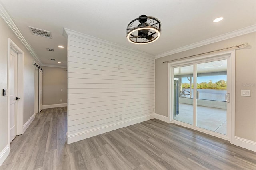
<svg viewBox="0 0 256 170"><path fill-rule="evenodd" d="M24 52L24 118L23 124L34 113L34 57L0 18L0 152L8 144L7 127L7 96L2 96L2 89L7 89L7 55L8 38L10 38ZM29 115L31 111L31 115Z"/></svg>

